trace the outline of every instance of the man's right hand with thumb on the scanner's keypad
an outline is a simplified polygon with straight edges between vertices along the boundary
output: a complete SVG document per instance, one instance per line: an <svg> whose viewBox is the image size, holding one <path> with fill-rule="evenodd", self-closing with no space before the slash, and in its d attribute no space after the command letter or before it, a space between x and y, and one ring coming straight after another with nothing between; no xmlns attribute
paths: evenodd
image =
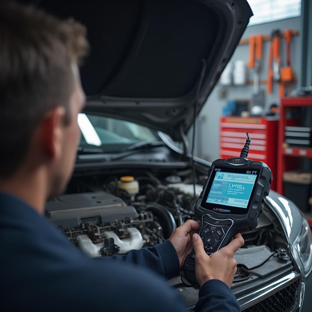
<svg viewBox="0 0 312 312"><path fill-rule="evenodd" d="M236 260L233 258L234 252L244 245L241 234L225 247L208 256L204 250L204 244L198 234L193 235L193 246L195 252L195 273L200 286L208 280L222 280L231 287L236 273Z"/></svg>

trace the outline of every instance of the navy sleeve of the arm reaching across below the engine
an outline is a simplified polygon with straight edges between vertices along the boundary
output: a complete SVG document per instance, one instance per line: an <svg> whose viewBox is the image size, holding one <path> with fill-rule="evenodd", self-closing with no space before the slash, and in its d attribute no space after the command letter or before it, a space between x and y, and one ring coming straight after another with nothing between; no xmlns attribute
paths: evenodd
<svg viewBox="0 0 312 312"><path fill-rule="evenodd" d="M180 273L180 264L177 252L171 241L167 240L154 247L145 247L139 250L130 250L124 256L110 256L95 258L96 261L106 263L127 263L147 268L155 273L171 279Z"/></svg>

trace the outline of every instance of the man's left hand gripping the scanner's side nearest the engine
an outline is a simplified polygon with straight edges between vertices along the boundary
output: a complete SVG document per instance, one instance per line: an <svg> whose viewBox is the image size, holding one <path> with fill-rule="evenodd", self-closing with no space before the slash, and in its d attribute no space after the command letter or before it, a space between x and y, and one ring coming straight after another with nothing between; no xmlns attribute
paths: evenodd
<svg viewBox="0 0 312 312"><path fill-rule="evenodd" d="M186 256L193 249L192 236L194 233L198 233L199 229L199 222L188 220L178 227L169 238L169 241L171 241L177 251L181 270Z"/></svg>

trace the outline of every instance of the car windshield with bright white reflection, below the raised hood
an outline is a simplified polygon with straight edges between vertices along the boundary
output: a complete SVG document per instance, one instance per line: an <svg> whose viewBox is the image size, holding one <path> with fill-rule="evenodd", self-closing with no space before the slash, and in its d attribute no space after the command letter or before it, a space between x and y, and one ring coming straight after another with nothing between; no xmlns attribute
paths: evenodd
<svg viewBox="0 0 312 312"><path fill-rule="evenodd" d="M142 141L159 141L155 131L121 119L81 113L78 124L79 150L99 148L104 153L115 153Z"/></svg>

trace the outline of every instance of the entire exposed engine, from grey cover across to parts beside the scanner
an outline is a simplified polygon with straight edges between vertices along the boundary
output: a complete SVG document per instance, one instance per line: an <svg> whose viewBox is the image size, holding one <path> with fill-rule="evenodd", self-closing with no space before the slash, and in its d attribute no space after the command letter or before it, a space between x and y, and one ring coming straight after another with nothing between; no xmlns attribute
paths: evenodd
<svg viewBox="0 0 312 312"><path fill-rule="evenodd" d="M165 183L152 174L134 181L139 186L135 194L120 188L117 177L105 181L101 190L88 183L89 192L47 202L46 216L91 257L157 245L193 217L193 185L180 176L168 176ZM195 190L198 196L202 186L195 185Z"/></svg>

